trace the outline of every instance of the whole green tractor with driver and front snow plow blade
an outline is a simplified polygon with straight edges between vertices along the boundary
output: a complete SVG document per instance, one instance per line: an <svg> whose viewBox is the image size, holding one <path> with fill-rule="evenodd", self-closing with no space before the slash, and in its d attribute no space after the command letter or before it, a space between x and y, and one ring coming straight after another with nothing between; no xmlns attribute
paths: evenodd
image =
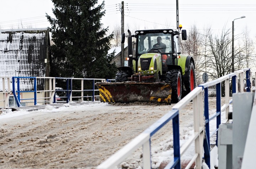
<svg viewBox="0 0 256 169"><path fill-rule="evenodd" d="M196 87L194 59L180 53L179 38L187 39L186 30L128 33L128 66L118 68L116 82L96 83L101 101L177 103ZM123 34L122 43L125 37ZM136 39L135 54L132 37Z"/></svg>

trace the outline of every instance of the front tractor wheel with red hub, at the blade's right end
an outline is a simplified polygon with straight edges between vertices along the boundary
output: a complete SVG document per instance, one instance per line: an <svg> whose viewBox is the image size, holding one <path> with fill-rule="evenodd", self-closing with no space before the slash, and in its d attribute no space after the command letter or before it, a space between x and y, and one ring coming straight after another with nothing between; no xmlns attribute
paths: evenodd
<svg viewBox="0 0 256 169"><path fill-rule="evenodd" d="M182 93L181 72L179 70L167 71L165 82L171 84L171 103L177 103L180 101Z"/></svg>

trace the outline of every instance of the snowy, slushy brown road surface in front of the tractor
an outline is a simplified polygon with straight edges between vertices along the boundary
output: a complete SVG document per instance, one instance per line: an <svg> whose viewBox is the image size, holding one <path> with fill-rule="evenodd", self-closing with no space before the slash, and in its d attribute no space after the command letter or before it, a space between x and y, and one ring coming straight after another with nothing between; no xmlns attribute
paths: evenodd
<svg viewBox="0 0 256 169"><path fill-rule="evenodd" d="M7 109L0 115L1 168L96 168L172 106L110 105L96 101L52 104L36 111ZM209 98L209 107L210 113L214 113L214 98ZM183 144L193 134L192 102L179 116L180 144ZM211 123L210 130L214 131L216 122ZM163 161L172 159L172 144L170 123L151 138L152 168L159 168ZM182 160L191 159L192 153L193 146ZM141 168L141 155L140 148L121 166Z"/></svg>

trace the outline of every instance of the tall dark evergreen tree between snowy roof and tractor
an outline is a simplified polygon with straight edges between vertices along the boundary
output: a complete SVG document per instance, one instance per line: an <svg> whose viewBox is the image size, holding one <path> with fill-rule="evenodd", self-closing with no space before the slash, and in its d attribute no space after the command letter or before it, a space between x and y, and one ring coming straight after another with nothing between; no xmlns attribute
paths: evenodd
<svg viewBox="0 0 256 169"><path fill-rule="evenodd" d="M52 0L55 18L46 14L51 24L53 45L51 76L76 78L114 78L116 65L108 54L113 34L102 28L104 1Z"/></svg>

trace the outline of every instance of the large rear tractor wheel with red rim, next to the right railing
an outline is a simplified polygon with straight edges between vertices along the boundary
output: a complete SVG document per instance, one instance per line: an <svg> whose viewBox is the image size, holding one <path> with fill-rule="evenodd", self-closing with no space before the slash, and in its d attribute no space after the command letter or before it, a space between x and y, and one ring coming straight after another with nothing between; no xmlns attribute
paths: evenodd
<svg viewBox="0 0 256 169"><path fill-rule="evenodd" d="M184 79L184 86L186 91L182 93L182 97L185 97L194 88L196 88L196 74L195 74L193 62L190 62L188 72L186 73L183 79Z"/></svg>

